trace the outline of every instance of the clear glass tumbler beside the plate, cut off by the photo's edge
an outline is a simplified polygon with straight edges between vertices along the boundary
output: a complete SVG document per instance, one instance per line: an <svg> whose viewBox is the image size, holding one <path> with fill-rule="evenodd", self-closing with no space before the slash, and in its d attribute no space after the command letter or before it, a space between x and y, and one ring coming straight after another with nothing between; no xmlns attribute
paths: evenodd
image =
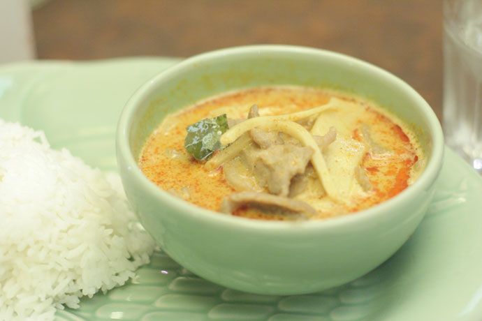
<svg viewBox="0 0 482 321"><path fill-rule="evenodd" d="M482 0L444 0L444 134L482 173Z"/></svg>

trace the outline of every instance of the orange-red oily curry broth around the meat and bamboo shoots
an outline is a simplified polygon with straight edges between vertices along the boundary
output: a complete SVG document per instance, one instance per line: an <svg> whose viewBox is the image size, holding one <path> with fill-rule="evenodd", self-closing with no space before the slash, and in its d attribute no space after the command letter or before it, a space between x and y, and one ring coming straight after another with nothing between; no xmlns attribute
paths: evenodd
<svg viewBox="0 0 482 321"><path fill-rule="evenodd" d="M177 191L178 195L193 204L218 211L224 197L235 193L235 190L224 179L222 167L207 170L205 162L195 160L187 154L184 149L185 128L200 119L213 117L213 111L226 106L231 112L235 110L237 117L243 118L247 115L247 106L254 103L259 106L261 115L263 109L288 114L326 104L332 96L356 102L359 106L360 115L351 132L351 138L362 142L361 126L369 126L375 134L374 140L382 147L387 147L390 152L375 154L369 150L363 156L360 167L370 179L370 193L355 195L349 204L335 204L326 209L317 209L319 214L313 218L328 218L366 209L407 188L418 174L417 166L414 165L421 157L421 149L413 133L409 132L404 124L394 117L388 117L374 103L361 98L304 87L259 87L232 92L203 100L170 115L145 142L139 159L140 169L160 188ZM235 107L230 109L230 106ZM319 199L323 197L326 195L320 193ZM248 208L239 209L234 215L286 219L283 215Z"/></svg>

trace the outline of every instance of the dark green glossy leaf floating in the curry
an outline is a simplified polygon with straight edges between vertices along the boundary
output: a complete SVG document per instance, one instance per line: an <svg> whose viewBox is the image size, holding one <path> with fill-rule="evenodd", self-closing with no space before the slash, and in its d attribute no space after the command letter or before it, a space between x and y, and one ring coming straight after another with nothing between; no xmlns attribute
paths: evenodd
<svg viewBox="0 0 482 321"><path fill-rule="evenodd" d="M187 126L184 147L197 160L206 160L214 151L221 149L219 137L228 130L226 114L214 118L206 118L196 124Z"/></svg>

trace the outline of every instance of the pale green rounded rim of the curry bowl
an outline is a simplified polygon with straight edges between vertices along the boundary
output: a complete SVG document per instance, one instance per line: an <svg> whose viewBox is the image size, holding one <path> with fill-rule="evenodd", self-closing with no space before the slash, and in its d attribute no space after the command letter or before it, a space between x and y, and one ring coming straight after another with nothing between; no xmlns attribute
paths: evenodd
<svg viewBox="0 0 482 321"><path fill-rule="evenodd" d="M370 74L384 77L386 78L387 82L393 83L397 88L400 89L400 91L404 91L404 94L411 96L411 98L415 101L415 105L421 109L423 115L425 116L425 120L428 123L428 128L430 128L430 136L432 137L432 150L430 151L431 157L426 163L425 170L423 170L421 176L418 177L414 184L411 184L405 188L401 193L367 209L357 211L356 213L350 215L307 221L264 221L221 214L217 211L211 211L209 209L198 207L195 204L191 204L187 201L179 199L178 197L170 195L170 193L163 191L161 188L159 188L159 186L156 186L156 184L147 179L147 177L145 177L145 175L141 172L140 167L138 167L138 163L134 158L129 146L129 133L133 115L138 110L138 107L142 105L141 103L145 100L145 98L156 91L158 84L163 82L165 78L170 78L175 76L177 73L181 73L184 68L189 68L189 66L193 66L204 61L214 62L216 61L217 57L235 57L243 54L264 54L266 52L271 52L273 54L316 54L319 55L319 57L337 59L342 63L349 64L349 66L363 68ZM379 216L388 215L387 212L390 212L390 209L404 206L406 202L414 198L416 195L419 195L423 191L427 190L429 186L434 184L434 181L437 179L441 170L444 156L444 135L442 133L441 125L437 119L437 116L434 114L432 108L430 105L428 105L425 99L418 94L415 89L409 86L409 84L378 66L374 66L373 64L355 57L348 56L346 54L312 47L295 45L247 45L214 50L184 59L183 61L166 68L166 70L161 71L161 73L155 75L150 80L145 82L145 84L137 89L131 98L129 98L124 106L124 109L122 110L121 116L119 117L116 131L116 151L118 158L117 166L119 167L119 158L124 158L127 169L129 172L131 172L131 175L139 182L139 184L143 185L145 192L149 193L153 197L157 197L161 202L166 203L166 205L175 209L179 214L190 216L192 219L208 222L214 225L233 225L238 229L248 228L250 230L263 230L263 232L307 232L310 230L333 230L336 227L346 227L346 225L354 226L360 225L360 223L365 221L372 221ZM122 172L122 169L119 168L119 171Z"/></svg>

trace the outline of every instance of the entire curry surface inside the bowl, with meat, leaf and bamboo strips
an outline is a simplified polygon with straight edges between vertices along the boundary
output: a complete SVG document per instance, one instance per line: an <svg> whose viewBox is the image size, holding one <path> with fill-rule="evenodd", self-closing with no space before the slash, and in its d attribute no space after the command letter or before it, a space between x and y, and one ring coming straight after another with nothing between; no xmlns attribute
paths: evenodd
<svg viewBox="0 0 482 321"><path fill-rule="evenodd" d="M292 220L383 202L412 184L425 161L409 128L372 101L257 87L168 115L139 165L157 186L205 209Z"/></svg>

